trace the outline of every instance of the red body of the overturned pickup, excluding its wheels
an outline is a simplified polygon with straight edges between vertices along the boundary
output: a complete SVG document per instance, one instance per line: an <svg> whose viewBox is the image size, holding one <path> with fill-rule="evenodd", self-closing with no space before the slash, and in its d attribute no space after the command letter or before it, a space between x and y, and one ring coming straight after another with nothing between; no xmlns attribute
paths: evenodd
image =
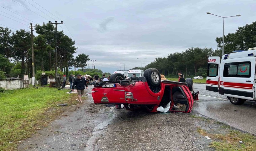
<svg viewBox="0 0 256 151"><path fill-rule="evenodd" d="M114 87L104 88L103 85ZM92 89L92 97L95 104L124 104L128 110L146 107L150 112L157 112L159 106L170 102L169 111L184 113L191 111L194 99L186 83L164 80L160 86L160 91L154 93L145 81L130 81L126 84L122 84L122 81L105 81L95 85ZM178 102L185 104L186 109L179 110Z"/></svg>

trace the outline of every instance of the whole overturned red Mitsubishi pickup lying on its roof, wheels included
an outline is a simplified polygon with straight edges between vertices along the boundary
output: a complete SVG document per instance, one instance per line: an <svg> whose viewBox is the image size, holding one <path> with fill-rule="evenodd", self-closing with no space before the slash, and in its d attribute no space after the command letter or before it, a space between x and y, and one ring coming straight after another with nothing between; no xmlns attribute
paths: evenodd
<svg viewBox="0 0 256 151"><path fill-rule="evenodd" d="M199 92L193 91L193 80L186 83L160 79L155 68L145 70L144 77L126 79L121 73L114 73L110 81L96 83L92 89L95 104L116 104L117 108L136 110L146 108L150 112L173 111L189 113Z"/></svg>

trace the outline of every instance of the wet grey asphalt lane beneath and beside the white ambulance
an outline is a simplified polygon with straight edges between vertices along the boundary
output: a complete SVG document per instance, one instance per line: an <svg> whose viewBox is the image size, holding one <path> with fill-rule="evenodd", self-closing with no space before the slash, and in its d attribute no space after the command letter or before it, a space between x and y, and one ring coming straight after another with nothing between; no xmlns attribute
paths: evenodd
<svg viewBox="0 0 256 151"><path fill-rule="evenodd" d="M256 135L256 102L233 105L226 96L206 91L205 84L194 84L194 90L199 91L199 101L194 101L193 111Z"/></svg>

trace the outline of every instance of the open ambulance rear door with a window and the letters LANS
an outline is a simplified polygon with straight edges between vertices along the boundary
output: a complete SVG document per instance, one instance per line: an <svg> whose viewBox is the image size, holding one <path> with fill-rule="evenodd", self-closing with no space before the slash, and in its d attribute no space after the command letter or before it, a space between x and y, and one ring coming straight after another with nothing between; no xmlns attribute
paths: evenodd
<svg viewBox="0 0 256 151"><path fill-rule="evenodd" d="M207 78L206 78L206 90L218 92L220 77L220 57L209 57Z"/></svg>

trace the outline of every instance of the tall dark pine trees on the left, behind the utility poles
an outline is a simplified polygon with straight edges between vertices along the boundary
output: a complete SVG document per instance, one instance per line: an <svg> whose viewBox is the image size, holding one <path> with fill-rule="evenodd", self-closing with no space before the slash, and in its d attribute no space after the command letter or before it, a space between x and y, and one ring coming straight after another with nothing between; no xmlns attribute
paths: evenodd
<svg viewBox="0 0 256 151"><path fill-rule="evenodd" d="M55 32L51 23L35 25L34 36L34 64L35 71L55 70L55 43L57 34L58 43L58 69L68 74L72 66L84 68L90 60L86 54L78 54L74 58L77 47L75 41L64 34ZM32 75L31 32L20 29L12 32L8 28L0 27L0 71L6 74ZM1 73L2 73L1 72Z"/></svg>

